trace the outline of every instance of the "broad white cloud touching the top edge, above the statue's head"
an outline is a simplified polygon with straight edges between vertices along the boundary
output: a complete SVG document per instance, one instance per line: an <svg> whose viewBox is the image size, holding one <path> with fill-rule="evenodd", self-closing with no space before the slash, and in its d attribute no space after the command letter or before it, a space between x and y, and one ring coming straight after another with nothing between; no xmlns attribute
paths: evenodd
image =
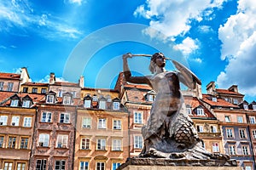
<svg viewBox="0 0 256 170"><path fill-rule="evenodd" d="M210 15L209 8L221 8L226 0L147 0L134 12L150 20L150 27L161 31L166 37L175 37L190 29L190 20L202 20L204 14ZM207 12L206 12L207 11Z"/></svg>

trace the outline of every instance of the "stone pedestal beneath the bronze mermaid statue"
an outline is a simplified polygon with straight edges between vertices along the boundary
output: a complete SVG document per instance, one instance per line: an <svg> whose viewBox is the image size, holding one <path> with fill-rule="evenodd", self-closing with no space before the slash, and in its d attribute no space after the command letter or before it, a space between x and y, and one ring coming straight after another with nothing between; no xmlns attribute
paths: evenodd
<svg viewBox="0 0 256 170"><path fill-rule="evenodd" d="M236 160L130 158L117 170L242 170Z"/></svg>

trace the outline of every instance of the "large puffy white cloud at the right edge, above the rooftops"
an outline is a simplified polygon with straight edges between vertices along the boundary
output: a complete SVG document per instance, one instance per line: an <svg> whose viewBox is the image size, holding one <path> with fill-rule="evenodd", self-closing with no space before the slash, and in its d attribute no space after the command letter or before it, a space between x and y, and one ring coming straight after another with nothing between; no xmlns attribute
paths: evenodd
<svg viewBox="0 0 256 170"><path fill-rule="evenodd" d="M237 84L244 94L256 96L256 3L254 0L239 0L238 10L218 29L223 42L221 59L228 65L218 75L220 88ZM228 86L228 87L227 87Z"/></svg>

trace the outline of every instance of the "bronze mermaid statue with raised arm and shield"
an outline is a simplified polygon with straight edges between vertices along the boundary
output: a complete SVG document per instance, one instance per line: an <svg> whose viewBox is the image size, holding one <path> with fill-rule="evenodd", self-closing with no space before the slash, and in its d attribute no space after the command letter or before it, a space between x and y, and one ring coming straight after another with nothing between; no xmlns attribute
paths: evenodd
<svg viewBox="0 0 256 170"><path fill-rule="evenodd" d="M132 77L127 59L133 54L123 55L124 75L127 82L148 84L156 93L148 124L143 127L144 148L139 157L185 158L185 159L229 159L229 156L212 154L202 147L201 139L186 113L180 82L195 88L201 81L191 71L178 64L179 71L166 71L164 54L153 54L149 70L152 76Z"/></svg>

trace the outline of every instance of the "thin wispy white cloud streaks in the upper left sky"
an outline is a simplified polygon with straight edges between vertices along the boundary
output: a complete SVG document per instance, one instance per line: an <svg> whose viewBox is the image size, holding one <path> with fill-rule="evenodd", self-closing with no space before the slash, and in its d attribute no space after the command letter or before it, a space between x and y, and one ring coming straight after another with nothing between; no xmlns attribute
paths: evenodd
<svg viewBox="0 0 256 170"><path fill-rule="evenodd" d="M80 0L73 0L73 3L82 3ZM63 19L57 18L44 12L34 11L31 4L24 0L0 1L0 31L12 32L13 27L26 32L36 31L42 37L50 38L77 38L82 32L70 26ZM37 29L35 29L35 27Z"/></svg>

